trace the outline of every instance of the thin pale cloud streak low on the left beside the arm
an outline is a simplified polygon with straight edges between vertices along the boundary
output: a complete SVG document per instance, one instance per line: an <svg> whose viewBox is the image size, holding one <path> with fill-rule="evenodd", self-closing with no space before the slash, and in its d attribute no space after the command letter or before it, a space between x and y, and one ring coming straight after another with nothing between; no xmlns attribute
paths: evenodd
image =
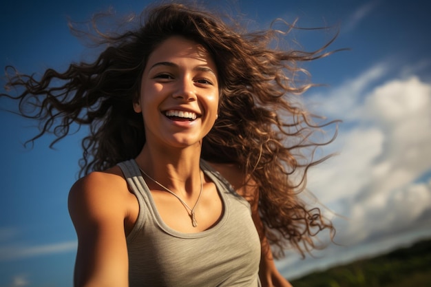
<svg viewBox="0 0 431 287"><path fill-rule="evenodd" d="M0 246L0 261L21 259L38 255L65 253L76 250L76 241L60 242L38 246L8 244Z"/></svg>

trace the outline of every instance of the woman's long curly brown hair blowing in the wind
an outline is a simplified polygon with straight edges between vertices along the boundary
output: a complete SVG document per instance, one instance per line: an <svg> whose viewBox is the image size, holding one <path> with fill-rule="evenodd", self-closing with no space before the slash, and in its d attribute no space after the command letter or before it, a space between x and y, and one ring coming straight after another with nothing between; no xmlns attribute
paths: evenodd
<svg viewBox="0 0 431 287"><path fill-rule="evenodd" d="M92 21L98 37L93 41L106 47L92 63L72 63L65 72L48 69L39 80L17 72L10 76L7 87L22 90L1 96L19 100L19 114L40 123L30 142L53 133L54 145L73 125L90 127L82 141L81 175L135 158L145 144L145 129L132 103L147 59L169 36L184 36L204 45L218 66L219 116L203 139L202 158L238 164L257 184L266 237L279 247L275 256L288 247L304 256L316 247L316 233L335 231L319 208L298 197L308 168L324 160L314 159L315 149L333 138L313 140L330 123L314 124L316 117L294 100L312 84L293 80L306 74L297 63L326 56L331 41L315 52L289 50L276 45L289 25L286 31L271 26L246 32L235 21L227 25L201 8L172 3L146 10L138 27L126 31L101 32L98 19Z"/></svg>

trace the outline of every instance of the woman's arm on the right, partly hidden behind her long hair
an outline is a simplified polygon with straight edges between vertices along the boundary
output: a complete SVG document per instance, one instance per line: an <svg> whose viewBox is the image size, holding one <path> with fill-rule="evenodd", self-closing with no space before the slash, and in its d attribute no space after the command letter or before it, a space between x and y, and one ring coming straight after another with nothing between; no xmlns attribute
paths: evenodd
<svg viewBox="0 0 431 287"><path fill-rule="evenodd" d="M235 164L211 165L226 178L235 191L251 204L253 222L259 233L262 255L260 258L259 277L262 287L292 287L292 285L277 270L271 246L264 235L264 225L259 215L259 194L253 180L247 178Z"/></svg>

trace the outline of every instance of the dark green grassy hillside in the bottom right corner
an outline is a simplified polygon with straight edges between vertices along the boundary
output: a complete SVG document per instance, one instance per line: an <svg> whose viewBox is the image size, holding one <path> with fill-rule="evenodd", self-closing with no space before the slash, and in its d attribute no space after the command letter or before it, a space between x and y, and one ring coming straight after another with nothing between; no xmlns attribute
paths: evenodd
<svg viewBox="0 0 431 287"><path fill-rule="evenodd" d="M431 240L291 281L294 287L431 287Z"/></svg>

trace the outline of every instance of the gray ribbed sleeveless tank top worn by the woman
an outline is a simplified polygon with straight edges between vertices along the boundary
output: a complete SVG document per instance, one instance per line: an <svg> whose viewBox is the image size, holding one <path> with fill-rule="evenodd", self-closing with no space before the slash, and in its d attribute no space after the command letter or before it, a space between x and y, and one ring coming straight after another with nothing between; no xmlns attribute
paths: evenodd
<svg viewBox="0 0 431 287"><path fill-rule="evenodd" d="M222 199L218 224L181 233L162 221L135 160L118 165L139 202L138 219L127 236L130 287L261 286L260 240L249 203L220 173L201 160Z"/></svg>

